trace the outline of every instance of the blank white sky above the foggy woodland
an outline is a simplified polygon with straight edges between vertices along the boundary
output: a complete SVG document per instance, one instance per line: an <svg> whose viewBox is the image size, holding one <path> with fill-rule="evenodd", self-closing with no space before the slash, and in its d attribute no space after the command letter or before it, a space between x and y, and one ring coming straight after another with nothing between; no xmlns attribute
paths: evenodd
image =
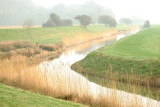
<svg viewBox="0 0 160 107"><path fill-rule="evenodd" d="M110 8L116 15L116 18L138 16L148 19L151 23L160 24L160 0L32 0L36 4L51 7L56 4L64 3L83 4L86 1L95 1L96 3Z"/></svg>

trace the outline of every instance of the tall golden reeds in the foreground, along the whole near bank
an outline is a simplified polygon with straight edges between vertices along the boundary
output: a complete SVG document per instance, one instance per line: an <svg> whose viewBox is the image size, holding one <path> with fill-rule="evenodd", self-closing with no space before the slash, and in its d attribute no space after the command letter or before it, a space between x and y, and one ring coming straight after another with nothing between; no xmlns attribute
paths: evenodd
<svg viewBox="0 0 160 107"><path fill-rule="evenodd" d="M141 107L143 105L140 101L141 97L135 95L134 98L134 95L130 94L124 94L122 97L119 95L120 92L115 90L116 87L114 90L107 89L107 92L105 88L98 85L94 89L86 78L72 73L67 68L59 72L54 71L55 69L52 69L49 63L43 63L39 67L28 62L28 58L24 56L1 61L0 82L91 107L123 107L125 105Z"/></svg>

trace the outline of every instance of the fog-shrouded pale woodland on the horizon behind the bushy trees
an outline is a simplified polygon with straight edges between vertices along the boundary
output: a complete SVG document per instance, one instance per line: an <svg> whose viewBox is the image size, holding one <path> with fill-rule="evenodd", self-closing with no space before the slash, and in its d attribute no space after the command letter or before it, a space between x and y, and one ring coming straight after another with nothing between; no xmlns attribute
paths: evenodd
<svg viewBox="0 0 160 107"><path fill-rule="evenodd" d="M55 13L63 19L63 24L77 24L74 17L78 15L88 15L92 21L98 23L98 18L101 15L115 17L115 14L107 7L88 1L81 5L64 4L55 5L50 9L35 5L32 0L1 0L0 2L0 26L23 25L26 20L32 20L34 25L42 25L51 13ZM69 20L66 20L69 19ZM132 23L142 22L139 18L132 19ZM61 23L61 24L62 24ZM71 23L70 23L71 24Z"/></svg>

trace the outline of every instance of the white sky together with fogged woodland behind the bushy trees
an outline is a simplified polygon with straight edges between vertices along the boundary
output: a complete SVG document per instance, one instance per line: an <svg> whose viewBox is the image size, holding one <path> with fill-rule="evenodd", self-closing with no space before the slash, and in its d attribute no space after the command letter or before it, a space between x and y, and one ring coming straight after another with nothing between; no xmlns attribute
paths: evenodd
<svg viewBox="0 0 160 107"><path fill-rule="evenodd" d="M150 20L160 23L159 0L0 0L0 25L22 25L31 19L34 25L42 25L49 14L56 13L64 19L74 20L76 15L86 14L97 23L100 15L130 18L133 24Z"/></svg>

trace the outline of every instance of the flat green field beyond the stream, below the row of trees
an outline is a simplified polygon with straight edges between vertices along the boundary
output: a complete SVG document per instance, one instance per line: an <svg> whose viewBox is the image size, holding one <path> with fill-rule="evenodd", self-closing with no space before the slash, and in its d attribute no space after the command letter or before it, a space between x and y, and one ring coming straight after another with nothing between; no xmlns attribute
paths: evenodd
<svg viewBox="0 0 160 107"><path fill-rule="evenodd" d="M130 26L118 25L116 29L127 29ZM0 42L2 41L28 41L32 43L55 44L62 42L64 37L73 37L80 33L102 33L110 28L104 25L90 25L87 29L81 26L31 28L31 29L0 29Z"/></svg>

